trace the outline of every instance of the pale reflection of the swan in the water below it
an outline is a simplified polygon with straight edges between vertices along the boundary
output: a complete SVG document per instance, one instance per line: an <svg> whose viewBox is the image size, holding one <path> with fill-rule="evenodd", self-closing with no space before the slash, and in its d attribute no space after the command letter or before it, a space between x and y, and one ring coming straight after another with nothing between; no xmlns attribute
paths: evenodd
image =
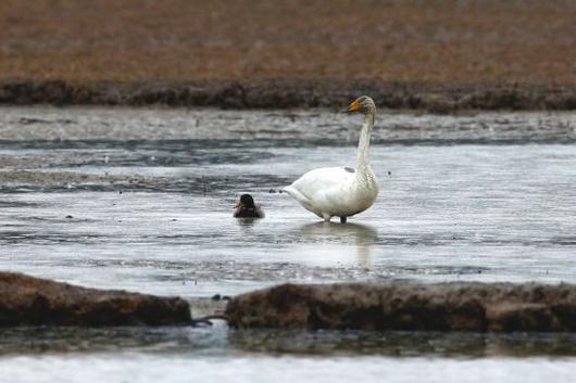
<svg viewBox="0 0 576 383"><path fill-rule="evenodd" d="M298 234L304 243L322 243L325 246L314 246L306 251L314 253L324 253L327 251L333 255L338 250L338 255L347 254L348 248L355 248L355 263L362 268L373 266L372 251L374 243L378 239L378 232L375 228L361 224L334 224L334 222L314 222L301 226ZM339 248L336 248L339 247ZM327 256L331 257L330 254Z"/></svg>

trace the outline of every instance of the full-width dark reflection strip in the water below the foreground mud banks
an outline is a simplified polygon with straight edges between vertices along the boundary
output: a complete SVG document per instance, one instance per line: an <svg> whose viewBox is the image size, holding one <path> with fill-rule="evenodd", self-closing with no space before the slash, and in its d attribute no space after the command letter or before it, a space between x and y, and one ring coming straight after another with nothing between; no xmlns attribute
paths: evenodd
<svg viewBox="0 0 576 383"><path fill-rule="evenodd" d="M127 349L198 356L227 353L472 358L576 356L575 335L566 333L230 330L220 321L213 327L198 328L7 328L0 329L0 357Z"/></svg>

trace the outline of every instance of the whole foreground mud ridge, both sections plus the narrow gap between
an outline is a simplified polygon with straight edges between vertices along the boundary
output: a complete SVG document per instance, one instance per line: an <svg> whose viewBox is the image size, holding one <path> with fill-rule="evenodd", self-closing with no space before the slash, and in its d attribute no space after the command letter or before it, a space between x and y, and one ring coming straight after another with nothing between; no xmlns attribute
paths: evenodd
<svg viewBox="0 0 576 383"><path fill-rule="evenodd" d="M208 306L195 303L199 316L224 307L204 301ZM0 272L0 327L191 324L190 312L189 303L177 297ZM224 317L233 328L576 332L576 286L283 284L231 298Z"/></svg>

